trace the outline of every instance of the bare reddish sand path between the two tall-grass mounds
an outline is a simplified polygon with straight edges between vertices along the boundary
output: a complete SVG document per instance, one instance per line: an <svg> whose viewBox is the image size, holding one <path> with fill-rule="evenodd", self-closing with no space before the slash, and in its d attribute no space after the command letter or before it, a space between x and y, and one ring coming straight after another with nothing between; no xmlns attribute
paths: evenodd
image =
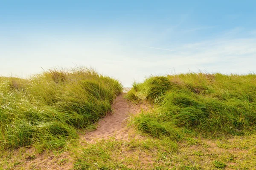
<svg viewBox="0 0 256 170"><path fill-rule="evenodd" d="M128 139L134 136L134 131L128 128L127 118L131 114L137 114L142 110L148 110L145 104L134 104L124 98L125 93L116 97L112 104L112 114L106 115L98 123L98 128L92 132L82 135L81 143L89 142L94 143L99 139L108 139L114 137L116 139Z"/></svg>

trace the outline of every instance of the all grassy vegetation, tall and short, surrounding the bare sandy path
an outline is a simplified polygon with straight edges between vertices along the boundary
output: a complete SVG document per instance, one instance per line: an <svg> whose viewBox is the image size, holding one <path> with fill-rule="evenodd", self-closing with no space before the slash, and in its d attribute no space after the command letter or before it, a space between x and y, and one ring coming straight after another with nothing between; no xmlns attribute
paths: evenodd
<svg viewBox="0 0 256 170"><path fill-rule="evenodd" d="M115 79L84 68L0 78L0 170L256 169L256 75L189 73L134 82L125 97L138 108L154 106L130 118L138 132L129 127L121 139L113 133L95 143L68 142L111 112L121 90Z"/></svg>

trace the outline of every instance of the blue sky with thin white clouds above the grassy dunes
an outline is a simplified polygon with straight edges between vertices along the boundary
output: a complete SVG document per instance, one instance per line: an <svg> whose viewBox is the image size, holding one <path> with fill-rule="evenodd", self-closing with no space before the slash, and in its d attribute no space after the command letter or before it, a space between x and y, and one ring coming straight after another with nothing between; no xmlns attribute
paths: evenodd
<svg viewBox="0 0 256 170"><path fill-rule="evenodd" d="M0 75L256 72L255 0L0 0Z"/></svg>

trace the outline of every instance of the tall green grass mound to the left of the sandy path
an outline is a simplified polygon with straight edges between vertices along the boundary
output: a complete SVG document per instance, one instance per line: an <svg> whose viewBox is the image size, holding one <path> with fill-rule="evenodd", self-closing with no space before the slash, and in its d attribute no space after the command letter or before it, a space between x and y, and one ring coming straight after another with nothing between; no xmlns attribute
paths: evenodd
<svg viewBox="0 0 256 170"><path fill-rule="evenodd" d="M119 81L87 68L0 77L0 149L63 147L111 112L120 92Z"/></svg>

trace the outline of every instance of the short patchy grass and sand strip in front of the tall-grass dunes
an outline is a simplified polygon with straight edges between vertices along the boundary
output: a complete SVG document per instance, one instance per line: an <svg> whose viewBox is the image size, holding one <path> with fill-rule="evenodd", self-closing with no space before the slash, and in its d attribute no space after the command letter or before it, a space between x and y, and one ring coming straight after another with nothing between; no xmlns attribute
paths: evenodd
<svg viewBox="0 0 256 170"><path fill-rule="evenodd" d="M0 170L255 170L256 135L230 139L146 136L144 140L114 138L35 155L20 148L0 153ZM68 153L68 154L67 154ZM2 156L3 155L3 156Z"/></svg>

